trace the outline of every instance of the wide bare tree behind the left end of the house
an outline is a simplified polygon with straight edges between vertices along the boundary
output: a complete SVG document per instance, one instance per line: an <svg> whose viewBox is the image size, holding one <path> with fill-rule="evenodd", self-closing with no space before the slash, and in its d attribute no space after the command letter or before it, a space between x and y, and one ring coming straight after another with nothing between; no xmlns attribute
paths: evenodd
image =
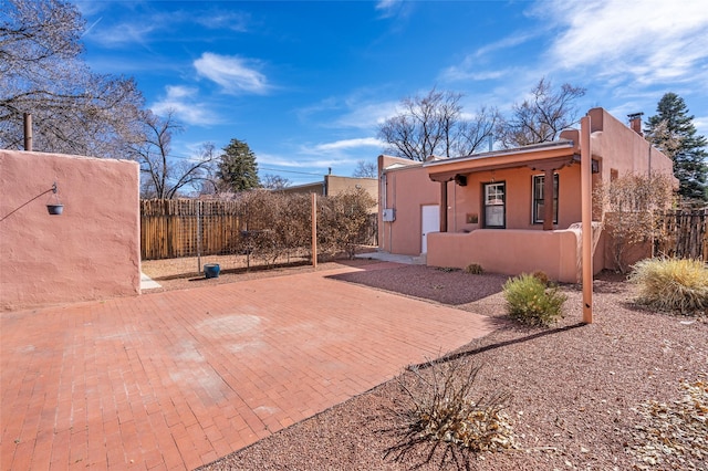
<svg viewBox="0 0 708 471"><path fill-rule="evenodd" d="M387 144L386 151L412 160L478 151L497 127L500 115L496 108L481 107L472 119L466 119L461 97L460 93L434 88L425 96L404 98L403 111L378 128L379 138Z"/></svg>

